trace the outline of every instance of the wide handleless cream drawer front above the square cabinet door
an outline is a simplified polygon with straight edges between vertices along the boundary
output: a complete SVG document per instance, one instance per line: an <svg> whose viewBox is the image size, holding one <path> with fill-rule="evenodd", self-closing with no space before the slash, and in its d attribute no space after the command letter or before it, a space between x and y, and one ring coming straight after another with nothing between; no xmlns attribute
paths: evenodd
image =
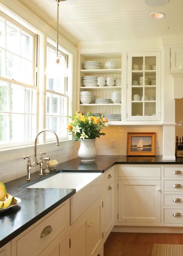
<svg viewBox="0 0 183 256"><path fill-rule="evenodd" d="M118 177L161 177L161 167L119 166Z"/></svg>

